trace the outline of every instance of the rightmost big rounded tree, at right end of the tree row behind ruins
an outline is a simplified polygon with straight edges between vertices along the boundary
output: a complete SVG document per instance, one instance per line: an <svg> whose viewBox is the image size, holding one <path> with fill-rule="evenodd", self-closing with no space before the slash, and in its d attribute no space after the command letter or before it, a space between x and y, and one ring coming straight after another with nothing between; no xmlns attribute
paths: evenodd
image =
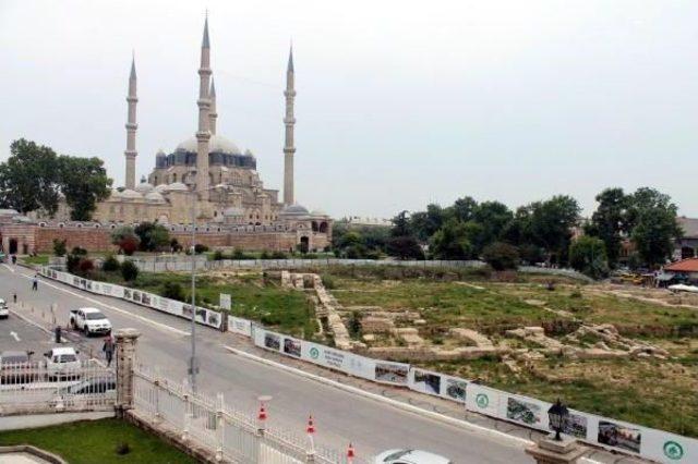
<svg viewBox="0 0 698 464"><path fill-rule="evenodd" d="M682 235L676 212L671 197L653 188L638 188L630 198L630 237L640 258L650 268L672 256L674 240Z"/></svg>

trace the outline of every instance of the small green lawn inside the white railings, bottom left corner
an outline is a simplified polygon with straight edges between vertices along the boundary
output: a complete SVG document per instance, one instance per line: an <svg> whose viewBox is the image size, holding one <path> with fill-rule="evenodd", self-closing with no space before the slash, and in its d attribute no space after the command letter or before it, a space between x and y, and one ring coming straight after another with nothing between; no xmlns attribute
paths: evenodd
<svg viewBox="0 0 698 464"><path fill-rule="evenodd" d="M128 443L130 452L118 454ZM58 454L71 464L189 464L181 451L118 419L79 422L59 426L10 430L0 434L0 444L33 444Z"/></svg>

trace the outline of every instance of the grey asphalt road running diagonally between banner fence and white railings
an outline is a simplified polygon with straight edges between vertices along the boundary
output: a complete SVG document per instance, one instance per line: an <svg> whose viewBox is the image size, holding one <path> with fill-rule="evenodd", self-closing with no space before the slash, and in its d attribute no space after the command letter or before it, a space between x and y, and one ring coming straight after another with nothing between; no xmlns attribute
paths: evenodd
<svg viewBox="0 0 698 464"><path fill-rule="evenodd" d="M61 283L41 279L38 291L31 289L33 272L21 267L0 266L0 297L33 306L35 315L57 305L56 317L65 325L68 312L81 306L99 308L115 329L131 327L141 331L139 362L158 366L170 379L183 379L190 350L190 326L186 320L116 298L93 295ZM27 309L25 309L27 310ZM41 347L50 345L48 334L37 333L11 315L0 320L0 349L28 346L34 341ZM17 342L11 332L17 333ZM27 342L23 337L27 338ZM101 340L80 337L84 346L100 353ZM226 403L253 414L258 395L273 396L268 405L269 425L284 427L302 436L309 414L315 419L317 442L346 449L352 441L358 453L375 454L390 448L430 450L454 460L455 463L531 463L516 443L454 425L402 411L389 404L318 383L273 366L231 354L231 334L198 326L197 356L201 364L200 391L207 394L222 392ZM35 350L36 351L36 350Z"/></svg>

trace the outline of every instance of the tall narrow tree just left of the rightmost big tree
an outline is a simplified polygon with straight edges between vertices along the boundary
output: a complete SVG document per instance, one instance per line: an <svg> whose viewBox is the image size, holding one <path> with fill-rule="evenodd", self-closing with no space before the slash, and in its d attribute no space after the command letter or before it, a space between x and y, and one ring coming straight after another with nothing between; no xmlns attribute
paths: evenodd
<svg viewBox="0 0 698 464"><path fill-rule="evenodd" d="M597 195L599 206L585 228L588 235L598 236L605 244L609 265L615 267L621 255L623 235L629 232L628 208L631 197L623 188L606 188Z"/></svg>

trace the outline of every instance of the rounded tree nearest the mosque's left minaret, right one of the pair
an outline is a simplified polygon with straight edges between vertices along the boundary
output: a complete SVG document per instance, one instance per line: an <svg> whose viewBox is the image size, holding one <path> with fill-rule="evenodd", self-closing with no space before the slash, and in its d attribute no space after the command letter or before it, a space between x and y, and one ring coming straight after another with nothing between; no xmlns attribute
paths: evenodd
<svg viewBox="0 0 698 464"><path fill-rule="evenodd" d="M111 179L99 158L58 158L59 183L70 217L74 221L89 221L97 202L109 197Z"/></svg>

